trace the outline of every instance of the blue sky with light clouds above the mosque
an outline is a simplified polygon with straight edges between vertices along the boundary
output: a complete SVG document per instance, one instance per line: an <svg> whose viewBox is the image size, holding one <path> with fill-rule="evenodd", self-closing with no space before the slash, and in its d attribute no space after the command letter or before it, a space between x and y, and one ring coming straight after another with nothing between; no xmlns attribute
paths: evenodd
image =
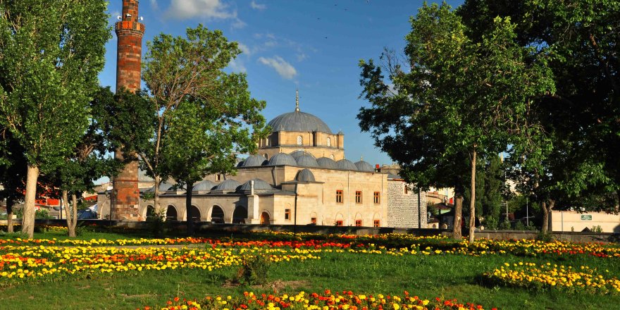
<svg viewBox="0 0 620 310"><path fill-rule="evenodd" d="M462 1L447 1L457 6ZM360 132L356 115L368 102L359 99L360 59L378 59L383 47L402 51L411 30L409 17L423 1L224 1L142 0L142 53L147 40L161 32L185 36L187 27L202 23L222 30L243 53L230 70L247 73L252 97L267 102L263 115L271 120L294 110L299 89L301 111L312 113L333 132L345 133L345 156L371 164L391 163L387 154ZM111 0L110 24L116 23L122 1ZM102 85L116 84L116 35L106 45Z"/></svg>

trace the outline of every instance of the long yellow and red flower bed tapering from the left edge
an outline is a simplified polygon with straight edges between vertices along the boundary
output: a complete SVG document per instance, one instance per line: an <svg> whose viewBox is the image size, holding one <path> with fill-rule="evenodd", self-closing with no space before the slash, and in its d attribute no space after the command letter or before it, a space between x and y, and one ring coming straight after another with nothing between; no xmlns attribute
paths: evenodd
<svg viewBox="0 0 620 310"><path fill-rule="evenodd" d="M161 247L11 247L0 254L0 285L22 280L85 278L105 273L138 273L177 268L201 268L212 271L238 266L243 257L266 255L273 262L320 259L311 252L290 249L178 249Z"/></svg>

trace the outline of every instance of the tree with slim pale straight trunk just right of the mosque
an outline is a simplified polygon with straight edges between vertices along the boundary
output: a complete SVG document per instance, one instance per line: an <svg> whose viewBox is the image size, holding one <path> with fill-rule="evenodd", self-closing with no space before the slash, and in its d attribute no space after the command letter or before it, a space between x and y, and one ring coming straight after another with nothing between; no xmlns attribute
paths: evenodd
<svg viewBox="0 0 620 310"><path fill-rule="evenodd" d="M524 61L531 49L515 43L514 25L509 19L496 18L482 42L477 43L467 37L465 25L450 6L425 4L411 18L411 27L405 49L410 72L401 70L390 78L398 91L396 96L409 98L406 107L411 119L405 122L419 123L424 135L440 137L437 141L442 142L443 149L438 156L455 163L457 156L469 157L469 240L473 241L477 156L497 154L506 148L509 134L528 131L523 115L533 97L552 91L552 82L547 79L544 63ZM373 101L384 104L381 100L385 95L377 90L387 83L378 74L366 80L365 92L369 89L378 94ZM381 124L378 132L389 133L389 125Z"/></svg>

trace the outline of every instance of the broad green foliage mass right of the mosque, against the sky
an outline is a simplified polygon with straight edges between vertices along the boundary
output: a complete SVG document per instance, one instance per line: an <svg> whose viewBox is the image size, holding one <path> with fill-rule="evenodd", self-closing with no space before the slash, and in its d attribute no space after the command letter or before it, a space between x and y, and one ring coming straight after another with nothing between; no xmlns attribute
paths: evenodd
<svg viewBox="0 0 620 310"><path fill-rule="evenodd" d="M360 127L410 182L447 182L462 193L463 161L473 170L476 154L497 154L540 130L526 116L535 97L554 92L551 72L544 61L528 61L533 49L519 46L510 18L495 18L479 38L445 3L423 4L410 21L407 61L384 54L387 77L360 61L362 97L372 104L361 108ZM470 190L474 197L476 185Z"/></svg>

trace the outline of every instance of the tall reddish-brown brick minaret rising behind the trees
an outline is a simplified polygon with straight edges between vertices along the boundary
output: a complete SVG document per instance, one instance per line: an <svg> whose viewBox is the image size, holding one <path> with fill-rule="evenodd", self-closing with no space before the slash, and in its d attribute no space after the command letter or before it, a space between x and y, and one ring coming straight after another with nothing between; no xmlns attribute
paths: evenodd
<svg viewBox="0 0 620 310"><path fill-rule="evenodd" d="M118 49L116 51L116 90L140 89L140 59L142 58L144 24L138 22L138 1L123 0L123 13L116 23ZM116 151L117 158L123 153ZM140 190L138 190L138 165L129 163L113 180L112 218L138 220Z"/></svg>

